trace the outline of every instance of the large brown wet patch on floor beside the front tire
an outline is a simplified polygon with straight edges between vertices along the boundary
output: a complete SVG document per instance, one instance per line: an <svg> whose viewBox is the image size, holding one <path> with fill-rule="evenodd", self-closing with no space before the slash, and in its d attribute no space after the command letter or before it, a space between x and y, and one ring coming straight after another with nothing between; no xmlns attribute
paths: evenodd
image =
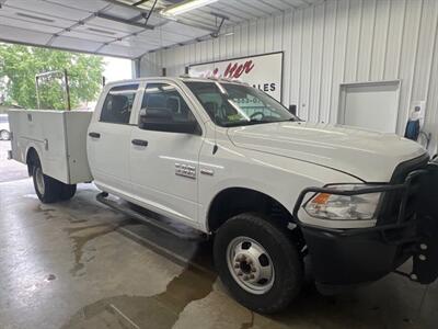
<svg viewBox="0 0 438 329"><path fill-rule="evenodd" d="M161 294L101 299L80 309L62 328L172 328L189 303L210 294L216 277L212 272L188 265Z"/></svg>

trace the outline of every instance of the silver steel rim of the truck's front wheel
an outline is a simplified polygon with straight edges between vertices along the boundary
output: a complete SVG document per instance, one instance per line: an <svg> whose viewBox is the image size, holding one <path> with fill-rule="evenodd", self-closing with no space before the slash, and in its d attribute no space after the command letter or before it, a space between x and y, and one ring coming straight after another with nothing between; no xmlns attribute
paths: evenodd
<svg viewBox="0 0 438 329"><path fill-rule="evenodd" d="M266 249L254 239L234 238L227 248L227 263L234 281L251 294L265 294L274 285L273 261Z"/></svg>

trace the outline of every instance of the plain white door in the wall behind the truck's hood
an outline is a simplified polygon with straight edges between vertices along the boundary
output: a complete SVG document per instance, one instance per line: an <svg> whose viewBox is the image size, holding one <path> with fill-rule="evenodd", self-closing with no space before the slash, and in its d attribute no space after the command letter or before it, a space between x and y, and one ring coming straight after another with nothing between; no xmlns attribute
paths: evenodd
<svg viewBox="0 0 438 329"><path fill-rule="evenodd" d="M341 86L338 123L381 133L395 133L400 81Z"/></svg>

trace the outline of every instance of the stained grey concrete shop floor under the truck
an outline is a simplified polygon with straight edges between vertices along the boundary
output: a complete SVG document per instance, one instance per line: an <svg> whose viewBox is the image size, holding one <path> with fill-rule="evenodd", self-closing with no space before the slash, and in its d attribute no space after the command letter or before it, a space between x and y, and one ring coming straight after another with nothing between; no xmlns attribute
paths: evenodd
<svg viewBox="0 0 438 329"><path fill-rule="evenodd" d="M208 242L175 238L95 202L92 184L43 205L0 141L0 328L437 328L438 285L391 274L281 315L235 303Z"/></svg>

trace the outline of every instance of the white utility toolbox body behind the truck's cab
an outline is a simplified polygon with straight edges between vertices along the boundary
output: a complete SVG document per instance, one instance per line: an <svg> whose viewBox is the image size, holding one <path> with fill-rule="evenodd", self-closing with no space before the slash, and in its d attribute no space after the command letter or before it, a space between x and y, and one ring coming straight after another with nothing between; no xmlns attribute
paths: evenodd
<svg viewBox="0 0 438 329"><path fill-rule="evenodd" d="M90 111L11 110L12 158L26 163L34 148L43 172L67 184L92 181L87 157Z"/></svg>

